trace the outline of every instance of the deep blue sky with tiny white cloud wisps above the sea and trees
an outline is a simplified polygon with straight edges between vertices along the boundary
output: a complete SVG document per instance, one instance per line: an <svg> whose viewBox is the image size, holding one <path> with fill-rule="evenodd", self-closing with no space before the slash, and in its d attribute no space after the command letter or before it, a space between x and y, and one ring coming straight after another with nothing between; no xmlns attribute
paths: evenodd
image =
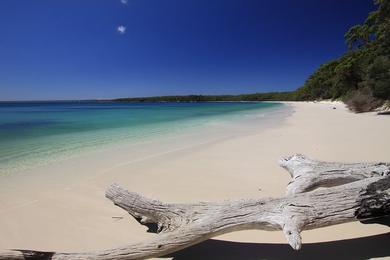
<svg viewBox="0 0 390 260"><path fill-rule="evenodd" d="M371 0L1 0L0 100L294 90Z"/></svg>

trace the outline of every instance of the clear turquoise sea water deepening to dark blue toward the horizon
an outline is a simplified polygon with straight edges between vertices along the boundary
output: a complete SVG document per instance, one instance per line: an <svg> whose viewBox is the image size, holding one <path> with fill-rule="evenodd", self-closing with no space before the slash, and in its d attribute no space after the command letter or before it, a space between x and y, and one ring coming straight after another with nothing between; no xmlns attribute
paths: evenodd
<svg viewBox="0 0 390 260"><path fill-rule="evenodd" d="M0 174L115 143L180 134L278 103L0 103Z"/></svg>

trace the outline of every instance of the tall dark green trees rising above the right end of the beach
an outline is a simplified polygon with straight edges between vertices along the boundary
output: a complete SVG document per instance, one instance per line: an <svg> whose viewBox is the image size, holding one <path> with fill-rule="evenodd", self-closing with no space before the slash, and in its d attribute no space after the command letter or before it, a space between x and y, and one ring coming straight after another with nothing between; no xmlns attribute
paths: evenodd
<svg viewBox="0 0 390 260"><path fill-rule="evenodd" d="M390 0L375 3L378 9L345 34L349 51L321 65L296 91L297 99L390 99ZM371 98L370 104L383 103Z"/></svg>

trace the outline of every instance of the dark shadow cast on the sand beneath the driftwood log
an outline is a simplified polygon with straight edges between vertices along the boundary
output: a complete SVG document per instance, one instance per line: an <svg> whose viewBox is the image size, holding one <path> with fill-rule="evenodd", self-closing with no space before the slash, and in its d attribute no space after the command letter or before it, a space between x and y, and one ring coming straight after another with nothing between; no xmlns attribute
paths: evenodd
<svg viewBox="0 0 390 260"><path fill-rule="evenodd" d="M294 251L287 244L207 240L171 254L174 260L369 259L390 256L390 233L332 242L304 244Z"/></svg>

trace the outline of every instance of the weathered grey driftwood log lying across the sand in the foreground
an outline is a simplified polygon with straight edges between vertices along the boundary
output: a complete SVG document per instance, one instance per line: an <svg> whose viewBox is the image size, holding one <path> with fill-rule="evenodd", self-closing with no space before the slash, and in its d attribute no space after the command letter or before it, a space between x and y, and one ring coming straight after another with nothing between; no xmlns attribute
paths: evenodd
<svg viewBox="0 0 390 260"><path fill-rule="evenodd" d="M145 259L245 229L282 230L298 250L302 230L390 216L389 163L330 163L293 155L279 164L292 177L282 198L175 204L113 184L106 197L158 233L154 238L87 253L4 250L0 259Z"/></svg>

